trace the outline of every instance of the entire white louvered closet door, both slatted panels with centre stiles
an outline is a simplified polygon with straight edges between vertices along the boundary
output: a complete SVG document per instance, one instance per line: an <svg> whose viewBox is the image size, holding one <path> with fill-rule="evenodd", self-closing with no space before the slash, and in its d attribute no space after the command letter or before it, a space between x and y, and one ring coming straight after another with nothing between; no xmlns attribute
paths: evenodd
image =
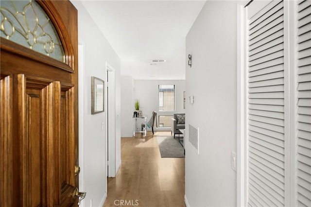
<svg viewBox="0 0 311 207"><path fill-rule="evenodd" d="M245 11L245 203L308 207L311 0L254 0Z"/></svg>

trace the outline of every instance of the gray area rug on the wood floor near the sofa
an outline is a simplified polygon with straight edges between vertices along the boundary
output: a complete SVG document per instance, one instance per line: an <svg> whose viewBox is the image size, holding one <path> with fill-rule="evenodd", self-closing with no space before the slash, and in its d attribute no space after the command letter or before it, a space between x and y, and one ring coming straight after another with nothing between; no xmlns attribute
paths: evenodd
<svg viewBox="0 0 311 207"><path fill-rule="evenodd" d="M182 137L181 137L182 138ZM179 143L178 138L169 137L157 137L157 143L159 145L161 157L185 157L184 148Z"/></svg>

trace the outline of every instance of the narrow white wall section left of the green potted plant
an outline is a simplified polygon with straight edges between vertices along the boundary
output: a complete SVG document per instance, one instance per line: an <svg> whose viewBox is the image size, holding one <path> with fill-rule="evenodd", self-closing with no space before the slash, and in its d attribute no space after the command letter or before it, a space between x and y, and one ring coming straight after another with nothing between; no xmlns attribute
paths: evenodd
<svg viewBox="0 0 311 207"><path fill-rule="evenodd" d="M132 137L132 117L134 108L134 79L121 76L121 137Z"/></svg>

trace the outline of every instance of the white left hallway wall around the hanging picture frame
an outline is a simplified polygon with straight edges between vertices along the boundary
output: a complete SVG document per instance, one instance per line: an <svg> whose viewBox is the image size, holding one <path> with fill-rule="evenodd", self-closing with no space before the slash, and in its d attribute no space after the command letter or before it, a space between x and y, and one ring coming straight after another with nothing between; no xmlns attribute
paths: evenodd
<svg viewBox="0 0 311 207"><path fill-rule="evenodd" d="M86 198L82 206L89 207L91 202L93 207L102 206L105 199L106 191L106 174L105 174L105 129L102 131L102 122L106 124L106 113L91 115L91 76L95 76L106 81L105 61L116 69L116 161L121 160L121 63L120 58L112 49L104 35L100 32L93 19L86 12L81 1L71 1L78 9L78 35L79 47L83 48L84 58L79 63L79 84L82 84L83 90L79 95L83 99L79 100L79 129L83 128L83 134L79 134L79 163L81 167L80 191L86 191ZM81 51L79 51L80 53ZM82 79L81 79L82 78ZM81 132L81 130L80 130ZM82 166L81 166L82 165Z"/></svg>

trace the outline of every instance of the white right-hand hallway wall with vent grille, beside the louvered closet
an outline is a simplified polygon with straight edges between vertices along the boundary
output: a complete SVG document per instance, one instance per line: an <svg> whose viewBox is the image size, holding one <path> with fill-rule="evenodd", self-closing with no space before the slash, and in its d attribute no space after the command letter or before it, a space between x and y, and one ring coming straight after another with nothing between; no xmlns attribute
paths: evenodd
<svg viewBox="0 0 311 207"><path fill-rule="evenodd" d="M186 200L194 206L236 206L237 1L206 1L186 37L186 140L199 127L199 152L186 142ZM187 64L187 63L186 63Z"/></svg>

